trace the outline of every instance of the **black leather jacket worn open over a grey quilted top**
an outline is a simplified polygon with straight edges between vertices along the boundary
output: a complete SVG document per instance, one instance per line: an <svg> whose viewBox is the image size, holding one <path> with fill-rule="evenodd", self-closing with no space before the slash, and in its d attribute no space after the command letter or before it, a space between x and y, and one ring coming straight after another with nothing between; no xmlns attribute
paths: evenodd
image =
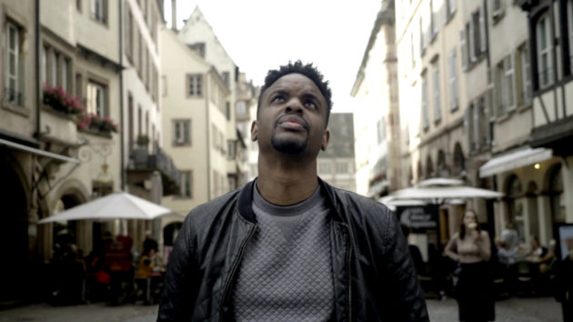
<svg viewBox="0 0 573 322"><path fill-rule="evenodd" d="M331 206L337 321L427 321L407 243L386 206L319 180ZM233 320L231 293L256 234L253 182L197 206L169 258L157 321Z"/></svg>

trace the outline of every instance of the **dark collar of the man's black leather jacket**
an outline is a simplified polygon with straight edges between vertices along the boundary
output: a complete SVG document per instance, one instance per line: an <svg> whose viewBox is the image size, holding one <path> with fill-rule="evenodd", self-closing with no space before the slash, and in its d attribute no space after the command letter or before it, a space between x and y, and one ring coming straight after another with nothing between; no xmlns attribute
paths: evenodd
<svg viewBox="0 0 573 322"><path fill-rule="evenodd" d="M243 216L247 221L252 223L256 223L256 216L253 212L253 192L255 189L255 182L256 179L253 181L248 182L238 196L238 212L240 216ZM324 192L324 195L327 196L327 204L331 209L331 216L334 216L335 219L339 221L344 221L342 214L340 211L344 211L338 205L339 201L337 198L337 194L335 189L328 185L327 182L323 181L320 177L318 177L318 186Z"/></svg>

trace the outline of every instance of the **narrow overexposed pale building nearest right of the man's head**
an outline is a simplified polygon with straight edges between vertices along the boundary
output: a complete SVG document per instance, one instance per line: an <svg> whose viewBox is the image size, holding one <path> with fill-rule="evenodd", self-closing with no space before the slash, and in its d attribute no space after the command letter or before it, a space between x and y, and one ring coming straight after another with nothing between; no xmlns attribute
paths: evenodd
<svg viewBox="0 0 573 322"><path fill-rule="evenodd" d="M351 95L357 193L378 198L402 179L394 1L384 2L370 34Z"/></svg>

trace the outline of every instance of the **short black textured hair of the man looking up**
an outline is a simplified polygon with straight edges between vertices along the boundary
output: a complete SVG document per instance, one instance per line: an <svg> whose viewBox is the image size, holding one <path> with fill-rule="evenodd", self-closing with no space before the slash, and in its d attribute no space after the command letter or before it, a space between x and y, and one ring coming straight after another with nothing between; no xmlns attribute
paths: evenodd
<svg viewBox="0 0 573 322"><path fill-rule="evenodd" d="M320 90L322 96L325 96L325 100L327 101L327 125L328 119L330 118L330 110L332 109L332 92L330 91L330 87L328 87L328 81L323 80L324 75L322 75L317 67L313 66L312 63L304 65L300 60L297 60L294 64L292 62L288 62L287 65L281 65L278 69L271 69L266 73L265 77L265 84L261 87L261 92L258 96L258 104L256 106L256 116L258 116L258 111L261 106L261 100L263 94L265 93L268 87L275 84L276 80L284 75L288 74L302 74L310 78L315 85Z"/></svg>

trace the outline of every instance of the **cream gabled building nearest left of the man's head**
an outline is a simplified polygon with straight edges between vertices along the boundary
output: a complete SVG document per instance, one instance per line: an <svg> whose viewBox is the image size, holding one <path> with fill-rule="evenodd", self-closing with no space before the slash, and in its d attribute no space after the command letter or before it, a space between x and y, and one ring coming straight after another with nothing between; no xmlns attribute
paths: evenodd
<svg viewBox="0 0 573 322"><path fill-rule="evenodd" d="M161 48L163 146L181 174L179 193L164 197L162 204L187 214L226 192L225 106L230 93L213 65L174 31L161 30Z"/></svg>

